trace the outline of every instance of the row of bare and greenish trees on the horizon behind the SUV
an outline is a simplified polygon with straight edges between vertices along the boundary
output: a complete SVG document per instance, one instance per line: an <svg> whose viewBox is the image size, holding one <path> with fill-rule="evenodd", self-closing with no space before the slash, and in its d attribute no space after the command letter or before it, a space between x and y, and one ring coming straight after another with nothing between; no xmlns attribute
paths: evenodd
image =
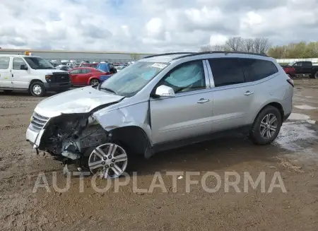
<svg viewBox="0 0 318 231"><path fill-rule="evenodd" d="M318 57L318 42L298 42L272 46L266 37L229 37L223 45L204 45L199 52L253 52L267 54L275 59L303 59Z"/></svg>

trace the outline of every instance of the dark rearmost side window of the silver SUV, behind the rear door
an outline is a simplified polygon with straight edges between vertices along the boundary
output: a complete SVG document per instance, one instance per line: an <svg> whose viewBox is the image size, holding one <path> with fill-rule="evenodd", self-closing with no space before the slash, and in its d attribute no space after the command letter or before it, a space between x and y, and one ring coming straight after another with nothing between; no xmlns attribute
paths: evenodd
<svg viewBox="0 0 318 231"><path fill-rule="evenodd" d="M271 61L261 59L240 59L247 82L259 81L278 73L278 69Z"/></svg>

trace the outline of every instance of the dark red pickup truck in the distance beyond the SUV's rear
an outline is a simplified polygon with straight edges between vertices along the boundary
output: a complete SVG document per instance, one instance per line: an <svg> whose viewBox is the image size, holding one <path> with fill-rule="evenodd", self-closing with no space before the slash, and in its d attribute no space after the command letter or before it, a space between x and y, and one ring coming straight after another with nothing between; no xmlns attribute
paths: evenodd
<svg viewBox="0 0 318 231"><path fill-rule="evenodd" d="M307 75L310 76L310 78L318 78L318 66L312 65L311 61L295 61L282 67L285 73L289 74L290 77ZM289 71L293 73L291 74Z"/></svg>

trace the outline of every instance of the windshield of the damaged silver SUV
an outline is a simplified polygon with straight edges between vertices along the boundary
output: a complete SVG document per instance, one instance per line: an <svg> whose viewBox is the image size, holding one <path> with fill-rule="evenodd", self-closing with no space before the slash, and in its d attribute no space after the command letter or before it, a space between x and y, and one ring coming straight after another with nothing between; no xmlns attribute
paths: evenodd
<svg viewBox="0 0 318 231"><path fill-rule="evenodd" d="M100 89L105 88L117 95L131 97L147 85L160 71L163 71L167 65L167 63L137 61L103 82Z"/></svg>

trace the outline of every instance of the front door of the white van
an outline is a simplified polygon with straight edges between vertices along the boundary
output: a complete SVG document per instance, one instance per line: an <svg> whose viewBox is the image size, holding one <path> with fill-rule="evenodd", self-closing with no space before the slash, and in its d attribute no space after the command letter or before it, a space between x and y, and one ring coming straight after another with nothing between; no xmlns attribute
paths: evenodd
<svg viewBox="0 0 318 231"><path fill-rule="evenodd" d="M13 58L13 65L11 71L13 79L13 88L28 89L30 80L29 78L27 78L27 76L29 70L21 70L21 65L27 66L27 64L22 58Z"/></svg>

